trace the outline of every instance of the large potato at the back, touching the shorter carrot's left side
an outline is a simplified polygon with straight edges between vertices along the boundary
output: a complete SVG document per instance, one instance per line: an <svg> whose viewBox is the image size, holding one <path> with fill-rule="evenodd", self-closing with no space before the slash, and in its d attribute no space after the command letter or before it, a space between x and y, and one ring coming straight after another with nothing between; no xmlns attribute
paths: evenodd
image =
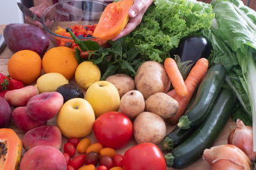
<svg viewBox="0 0 256 170"><path fill-rule="evenodd" d="M168 92L170 78L164 66L156 61L146 61L141 64L134 78L137 90L145 99L157 92Z"/></svg>

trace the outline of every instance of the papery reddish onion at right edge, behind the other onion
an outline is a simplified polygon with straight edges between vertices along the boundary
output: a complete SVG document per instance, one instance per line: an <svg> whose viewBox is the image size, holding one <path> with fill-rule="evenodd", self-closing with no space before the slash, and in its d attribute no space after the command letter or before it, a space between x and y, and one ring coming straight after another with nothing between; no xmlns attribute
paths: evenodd
<svg viewBox="0 0 256 170"><path fill-rule="evenodd" d="M243 150L251 160L255 160L256 152L253 152L252 127L244 125L243 121L237 119L236 129L230 132L228 144L236 145Z"/></svg>

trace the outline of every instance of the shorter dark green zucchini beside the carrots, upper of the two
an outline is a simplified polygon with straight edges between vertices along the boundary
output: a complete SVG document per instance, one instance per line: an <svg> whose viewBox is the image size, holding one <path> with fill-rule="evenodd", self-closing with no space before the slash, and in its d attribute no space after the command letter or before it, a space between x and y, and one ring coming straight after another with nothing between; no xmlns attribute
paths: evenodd
<svg viewBox="0 0 256 170"><path fill-rule="evenodd" d="M182 129L196 127L207 117L207 113L225 82L226 69L221 64L214 64L205 74L196 92L196 99L192 106L180 117L178 126Z"/></svg>

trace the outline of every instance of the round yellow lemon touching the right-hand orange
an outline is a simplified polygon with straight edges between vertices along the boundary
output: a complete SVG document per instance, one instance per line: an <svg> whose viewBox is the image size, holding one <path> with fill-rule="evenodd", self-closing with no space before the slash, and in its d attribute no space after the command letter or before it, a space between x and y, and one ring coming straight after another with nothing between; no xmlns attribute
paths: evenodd
<svg viewBox="0 0 256 170"><path fill-rule="evenodd" d="M90 61L81 62L75 73L76 82L83 89L88 89L92 83L100 80L100 69Z"/></svg>

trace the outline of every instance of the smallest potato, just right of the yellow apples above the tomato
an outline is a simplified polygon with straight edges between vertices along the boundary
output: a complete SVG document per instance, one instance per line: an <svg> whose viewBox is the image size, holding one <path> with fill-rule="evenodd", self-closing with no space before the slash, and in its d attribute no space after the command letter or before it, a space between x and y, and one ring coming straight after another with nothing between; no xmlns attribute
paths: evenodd
<svg viewBox="0 0 256 170"><path fill-rule="evenodd" d="M135 118L145 109L144 97L138 90L124 94L120 101L120 111L129 118Z"/></svg>

